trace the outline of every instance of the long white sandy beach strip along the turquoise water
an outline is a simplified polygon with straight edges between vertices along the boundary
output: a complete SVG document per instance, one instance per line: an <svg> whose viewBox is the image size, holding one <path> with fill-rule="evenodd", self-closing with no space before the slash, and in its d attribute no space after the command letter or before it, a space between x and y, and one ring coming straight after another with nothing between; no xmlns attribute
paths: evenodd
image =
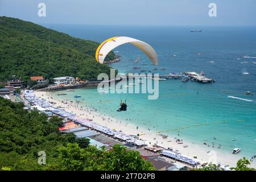
<svg viewBox="0 0 256 182"><path fill-rule="evenodd" d="M79 104L71 103L67 100L59 100L54 98L48 92L35 92L36 97L44 98L46 101L55 102L56 106L61 107L62 109L69 111L70 113L76 114L77 117L93 119L93 122L96 122L102 126L109 127L110 129L115 129L117 131L122 131L125 134L137 135L139 134L139 138L146 140L147 143L157 144L164 148L172 147L173 150L176 150L187 156L189 158L193 158L194 155L197 156L197 161L201 164L213 162L216 164L222 164L223 166L229 165L229 167L236 166L237 160L240 159L236 155L230 154L227 156L226 154L222 154L221 151L218 151L214 148L203 148L199 146L198 142L188 142L183 140L182 144L178 144L176 142L177 138L167 137L159 135L158 133L154 133L153 131L149 131L146 128L138 127L132 125L128 121L121 121L120 119L111 118L106 114L101 114L97 112L97 109L93 109L92 107L85 107ZM183 147L183 146L188 147ZM251 167L255 167L255 162L251 163Z"/></svg>

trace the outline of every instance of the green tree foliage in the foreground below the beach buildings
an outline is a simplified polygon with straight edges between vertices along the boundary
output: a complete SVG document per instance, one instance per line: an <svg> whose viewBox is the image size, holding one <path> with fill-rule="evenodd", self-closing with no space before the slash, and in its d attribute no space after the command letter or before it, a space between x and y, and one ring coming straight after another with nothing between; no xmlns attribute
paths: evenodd
<svg viewBox="0 0 256 182"><path fill-rule="evenodd" d="M61 134L63 121L0 97L1 170L151 170L137 151L116 145L112 150L89 145L89 139ZM46 165L38 152L46 152Z"/></svg>

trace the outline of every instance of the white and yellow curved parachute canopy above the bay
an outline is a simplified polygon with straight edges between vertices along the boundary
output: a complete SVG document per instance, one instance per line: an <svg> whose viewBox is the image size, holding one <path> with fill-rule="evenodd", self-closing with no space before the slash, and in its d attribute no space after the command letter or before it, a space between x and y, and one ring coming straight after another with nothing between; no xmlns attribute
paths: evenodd
<svg viewBox="0 0 256 182"><path fill-rule="evenodd" d="M102 42L100 46L97 48L95 54L97 62L102 64L104 62L106 55L108 55L110 51L126 43L131 43L134 46L137 46L144 53L146 53L146 55L152 61L152 63L158 65L158 56L156 55L155 50L149 44L142 42L141 40L129 38L127 36L115 36Z"/></svg>

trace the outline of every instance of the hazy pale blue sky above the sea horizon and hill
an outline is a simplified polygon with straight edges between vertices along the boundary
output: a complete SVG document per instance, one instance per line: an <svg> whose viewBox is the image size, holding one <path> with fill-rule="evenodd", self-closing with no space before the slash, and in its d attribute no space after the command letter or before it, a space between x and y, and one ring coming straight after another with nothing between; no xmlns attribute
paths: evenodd
<svg viewBox="0 0 256 182"><path fill-rule="evenodd" d="M38 4L46 4L46 17ZM217 17L209 17L209 3ZM256 0L0 0L0 15L34 23L256 26Z"/></svg>

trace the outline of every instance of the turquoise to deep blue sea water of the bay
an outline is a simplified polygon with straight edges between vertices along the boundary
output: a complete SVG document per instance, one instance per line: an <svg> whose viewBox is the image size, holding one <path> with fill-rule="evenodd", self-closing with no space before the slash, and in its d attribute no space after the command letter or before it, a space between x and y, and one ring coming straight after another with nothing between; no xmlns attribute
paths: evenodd
<svg viewBox="0 0 256 182"><path fill-rule="evenodd" d="M200 146L204 138L213 142L216 137L214 142L222 145L223 152L230 154L233 148L240 147L242 151L238 155L250 157L256 153L256 64L252 64L256 59L241 57L256 57L256 27L44 26L96 42L117 35L131 36L155 48L159 56L158 68L167 68L155 72L204 71L206 76L216 80L212 84L172 79L159 82L158 100L147 100L146 94L99 94L97 89L77 89L67 96L57 97L74 100L73 96L80 94L84 105L92 105L101 113L135 126L164 131L170 136L177 136L180 130L181 138ZM191 28L203 31L189 32ZM134 72L132 67L136 65L151 71L155 67L132 45L120 46L115 51L122 56L119 63L112 64L119 73ZM138 64L129 61L137 55L142 55ZM243 61L248 63L241 64ZM242 72L250 75L242 75ZM247 90L254 96L247 96ZM97 103L100 100L112 102ZM127 100L126 112L115 111L120 100ZM232 141L233 138L237 140Z"/></svg>

